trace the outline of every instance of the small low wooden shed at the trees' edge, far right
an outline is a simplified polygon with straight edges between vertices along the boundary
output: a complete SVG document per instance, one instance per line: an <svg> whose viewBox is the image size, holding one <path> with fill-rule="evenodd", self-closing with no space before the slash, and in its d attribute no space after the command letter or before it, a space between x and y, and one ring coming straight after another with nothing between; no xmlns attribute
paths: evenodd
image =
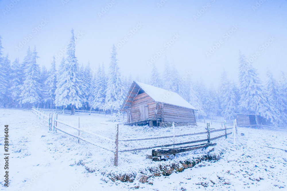
<svg viewBox="0 0 287 191"><path fill-rule="evenodd" d="M261 125L262 118L255 114L236 113L237 125L241 127L258 128Z"/></svg>

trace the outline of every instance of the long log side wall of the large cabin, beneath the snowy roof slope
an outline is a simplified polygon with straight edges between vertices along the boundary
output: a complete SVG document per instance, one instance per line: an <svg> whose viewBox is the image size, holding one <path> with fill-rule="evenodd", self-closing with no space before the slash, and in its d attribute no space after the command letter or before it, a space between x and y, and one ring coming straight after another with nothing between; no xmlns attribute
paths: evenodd
<svg viewBox="0 0 287 191"><path fill-rule="evenodd" d="M165 122L196 123L195 116L189 108L163 104L163 116Z"/></svg>

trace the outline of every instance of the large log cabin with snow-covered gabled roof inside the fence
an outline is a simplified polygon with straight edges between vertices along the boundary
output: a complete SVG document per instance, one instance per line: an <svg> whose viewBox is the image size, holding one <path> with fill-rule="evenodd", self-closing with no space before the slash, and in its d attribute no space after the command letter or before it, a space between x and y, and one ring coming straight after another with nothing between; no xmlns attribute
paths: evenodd
<svg viewBox="0 0 287 191"><path fill-rule="evenodd" d="M127 111L125 125L149 124L164 126L165 122L196 125L195 109L179 94L133 82L121 111Z"/></svg>

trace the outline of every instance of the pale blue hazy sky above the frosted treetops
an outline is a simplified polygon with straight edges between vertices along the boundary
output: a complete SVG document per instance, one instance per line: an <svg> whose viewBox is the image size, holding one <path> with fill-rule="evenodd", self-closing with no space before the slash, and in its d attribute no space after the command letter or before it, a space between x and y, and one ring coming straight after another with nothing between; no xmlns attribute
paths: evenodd
<svg viewBox="0 0 287 191"><path fill-rule="evenodd" d="M142 81L149 78L151 67L147 62L161 49L176 64L182 76L191 71L194 79L204 78L207 86L210 83L217 86L223 68L229 78L237 81L239 50L248 59L259 52L253 65L259 70L262 80L265 80L267 68L277 78L280 70L287 73L286 0L262 0L262 4L257 4L258 8L258 0L168 0L160 7L157 4L160 0L114 0L114 4L110 0L66 1L65 4L64 0L0 1L3 51L5 54L9 52L12 62L16 57L22 62L28 46L33 48L36 45L40 56L38 63L49 68L52 57L59 55L61 49L67 46L73 28L75 36L79 32L82 34L76 42L76 56L80 64L86 65L90 60L91 68L97 68L104 62L107 68L113 44L124 40L125 43L117 51L121 72L123 75L131 72L134 76L139 73ZM98 12L107 3L112 6L99 16ZM195 19L197 11L202 13ZM41 23L43 26L38 27ZM136 26L138 29L134 34L128 33ZM232 28L234 26L238 28ZM224 36L231 29L232 34ZM177 34L176 38L174 34ZM29 38L29 42L23 48L16 48L25 38ZM172 38L174 43L167 46L165 43ZM261 45L268 40L272 43L262 49ZM219 48L207 56L206 52L220 42ZM155 62L160 72L163 71L163 61L164 56L160 56Z"/></svg>

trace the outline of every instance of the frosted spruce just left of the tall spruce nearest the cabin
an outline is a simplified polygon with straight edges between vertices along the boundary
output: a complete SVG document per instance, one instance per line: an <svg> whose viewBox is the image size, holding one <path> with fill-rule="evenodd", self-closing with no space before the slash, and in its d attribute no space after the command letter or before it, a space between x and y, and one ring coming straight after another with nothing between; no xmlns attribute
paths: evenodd
<svg viewBox="0 0 287 191"><path fill-rule="evenodd" d="M104 73L104 66L102 68L98 67L97 74L95 75L94 90L93 90L93 103L92 107L94 109L104 109L105 99L106 99L106 76Z"/></svg>

